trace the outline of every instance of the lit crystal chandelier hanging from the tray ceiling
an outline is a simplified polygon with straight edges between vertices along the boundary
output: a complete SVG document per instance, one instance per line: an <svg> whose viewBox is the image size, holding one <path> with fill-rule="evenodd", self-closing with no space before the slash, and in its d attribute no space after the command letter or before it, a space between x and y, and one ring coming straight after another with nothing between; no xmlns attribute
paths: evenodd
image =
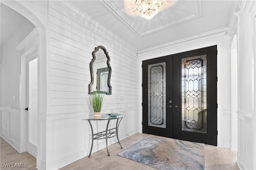
<svg viewBox="0 0 256 170"><path fill-rule="evenodd" d="M139 16L151 20L159 11L164 0L136 0L135 8Z"/></svg>

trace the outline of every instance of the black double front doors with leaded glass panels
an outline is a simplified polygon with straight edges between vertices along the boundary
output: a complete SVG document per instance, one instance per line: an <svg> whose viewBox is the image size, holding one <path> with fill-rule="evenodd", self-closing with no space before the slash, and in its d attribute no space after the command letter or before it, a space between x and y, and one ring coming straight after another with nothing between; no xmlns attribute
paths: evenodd
<svg viewBox="0 0 256 170"><path fill-rule="evenodd" d="M142 132L217 145L217 46L142 61Z"/></svg>

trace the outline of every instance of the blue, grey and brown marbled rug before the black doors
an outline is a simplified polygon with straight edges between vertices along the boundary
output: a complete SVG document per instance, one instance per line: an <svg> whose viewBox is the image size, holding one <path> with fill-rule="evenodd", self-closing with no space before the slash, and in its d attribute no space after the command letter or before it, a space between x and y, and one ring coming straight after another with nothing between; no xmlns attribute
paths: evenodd
<svg viewBox="0 0 256 170"><path fill-rule="evenodd" d="M204 144L150 135L118 154L160 170L204 170Z"/></svg>

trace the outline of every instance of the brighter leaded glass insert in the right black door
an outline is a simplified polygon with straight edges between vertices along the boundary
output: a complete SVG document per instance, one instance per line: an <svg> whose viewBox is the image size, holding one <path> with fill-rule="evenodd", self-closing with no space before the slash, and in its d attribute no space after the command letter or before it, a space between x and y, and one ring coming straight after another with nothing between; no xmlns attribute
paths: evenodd
<svg viewBox="0 0 256 170"><path fill-rule="evenodd" d="M207 133L206 55L182 59L182 131Z"/></svg>

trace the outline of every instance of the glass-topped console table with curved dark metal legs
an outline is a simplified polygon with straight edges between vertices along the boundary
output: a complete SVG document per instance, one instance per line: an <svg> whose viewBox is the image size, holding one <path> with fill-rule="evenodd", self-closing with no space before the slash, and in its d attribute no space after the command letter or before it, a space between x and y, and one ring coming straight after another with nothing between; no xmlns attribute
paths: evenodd
<svg viewBox="0 0 256 170"><path fill-rule="evenodd" d="M87 119L84 119L89 122L91 131L92 131L92 146L91 146L90 154L88 156L89 158L92 153L93 141L96 139L106 139L106 147L107 147L107 151L108 151L108 156L110 155L109 150L108 150L108 139L109 138L116 136L121 149L123 149L123 147L120 144L119 138L118 138L118 127L119 127L119 124L120 124L121 120L123 119L123 117L124 117L124 115L118 115L116 117L109 117L109 116L102 114L99 118L95 118L93 115L90 115ZM114 120L114 119L116 119L116 127L112 128L112 129L108 129L108 125L109 125L110 121ZM107 126L106 126L106 131L94 133L91 121L102 121L102 120L108 121Z"/></svg>

